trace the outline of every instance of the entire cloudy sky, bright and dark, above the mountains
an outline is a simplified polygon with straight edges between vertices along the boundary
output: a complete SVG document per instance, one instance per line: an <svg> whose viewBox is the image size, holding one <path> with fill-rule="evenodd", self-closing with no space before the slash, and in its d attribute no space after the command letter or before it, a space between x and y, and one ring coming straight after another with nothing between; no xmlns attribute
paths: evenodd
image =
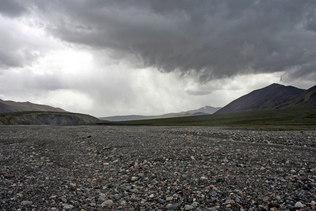
<svg viewBox="0 0 316 211"><path fill-rule="evenodd" d="M96 117L316 83L315 1L1 0L0 98Z"/></svg>

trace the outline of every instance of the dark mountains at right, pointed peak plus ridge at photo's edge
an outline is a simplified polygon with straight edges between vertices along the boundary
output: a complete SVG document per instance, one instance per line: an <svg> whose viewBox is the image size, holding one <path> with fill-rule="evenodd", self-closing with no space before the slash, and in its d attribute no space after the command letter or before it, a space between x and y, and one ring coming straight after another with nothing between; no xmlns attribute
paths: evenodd
<svg viewBox="0 0 316 211"><path fill-rule="evenodd" d="M237 98L227 106L220 108L216 114L298 107L316 107L316 86L305 90L271 84Z"/></svg>

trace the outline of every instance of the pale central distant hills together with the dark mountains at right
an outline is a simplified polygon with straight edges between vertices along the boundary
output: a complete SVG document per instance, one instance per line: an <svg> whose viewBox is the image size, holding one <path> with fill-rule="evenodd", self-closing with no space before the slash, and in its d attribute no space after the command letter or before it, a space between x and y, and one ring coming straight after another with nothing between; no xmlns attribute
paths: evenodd
<svg viewBox="0 0 316 211"><path fill-rule="evenodd" d="M126 115L101 117L107 121L150 120L169 117L189 117L209 114L237 113L251 110L275 110L284 108L314 108L316 107L316 85L310 89L299 89L282 84L271 84L262 89L256 89L249 94L237 98L223 108L205 106L197 110L187 110L180 113L168 113L164 115L142 116Z"/></svg>

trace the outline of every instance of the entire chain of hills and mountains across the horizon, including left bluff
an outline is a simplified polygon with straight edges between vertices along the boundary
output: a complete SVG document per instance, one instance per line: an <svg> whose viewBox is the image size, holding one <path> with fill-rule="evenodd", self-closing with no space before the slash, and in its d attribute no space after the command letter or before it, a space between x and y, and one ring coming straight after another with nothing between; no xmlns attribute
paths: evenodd
<svg viewBox="0 0 316 211"><path fill-rule="evenodd" d="M316 108L316 85L310 89L271 84L237 98L223 108L205 106L196 110L164 115L126 115L101 117L100 120L128 121L170 117L192 117L210 114L242 113L254 110L282 110L285 108ZM295 110L294 109L294 110ZM0 99L0 124L93 124L99 120L83 114L69 113L62 108L30 102L3 101Z"/></svg>

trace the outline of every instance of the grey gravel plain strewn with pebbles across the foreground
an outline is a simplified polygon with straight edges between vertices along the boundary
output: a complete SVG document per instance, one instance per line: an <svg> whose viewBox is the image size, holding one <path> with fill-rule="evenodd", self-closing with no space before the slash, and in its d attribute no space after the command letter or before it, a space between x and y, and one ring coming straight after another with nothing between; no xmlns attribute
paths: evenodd
<svg viewBox="0 0 316 211"><path fill-rule="evenodd" d="M316 131L1 126L0 210L315 210Z"/></svg>

